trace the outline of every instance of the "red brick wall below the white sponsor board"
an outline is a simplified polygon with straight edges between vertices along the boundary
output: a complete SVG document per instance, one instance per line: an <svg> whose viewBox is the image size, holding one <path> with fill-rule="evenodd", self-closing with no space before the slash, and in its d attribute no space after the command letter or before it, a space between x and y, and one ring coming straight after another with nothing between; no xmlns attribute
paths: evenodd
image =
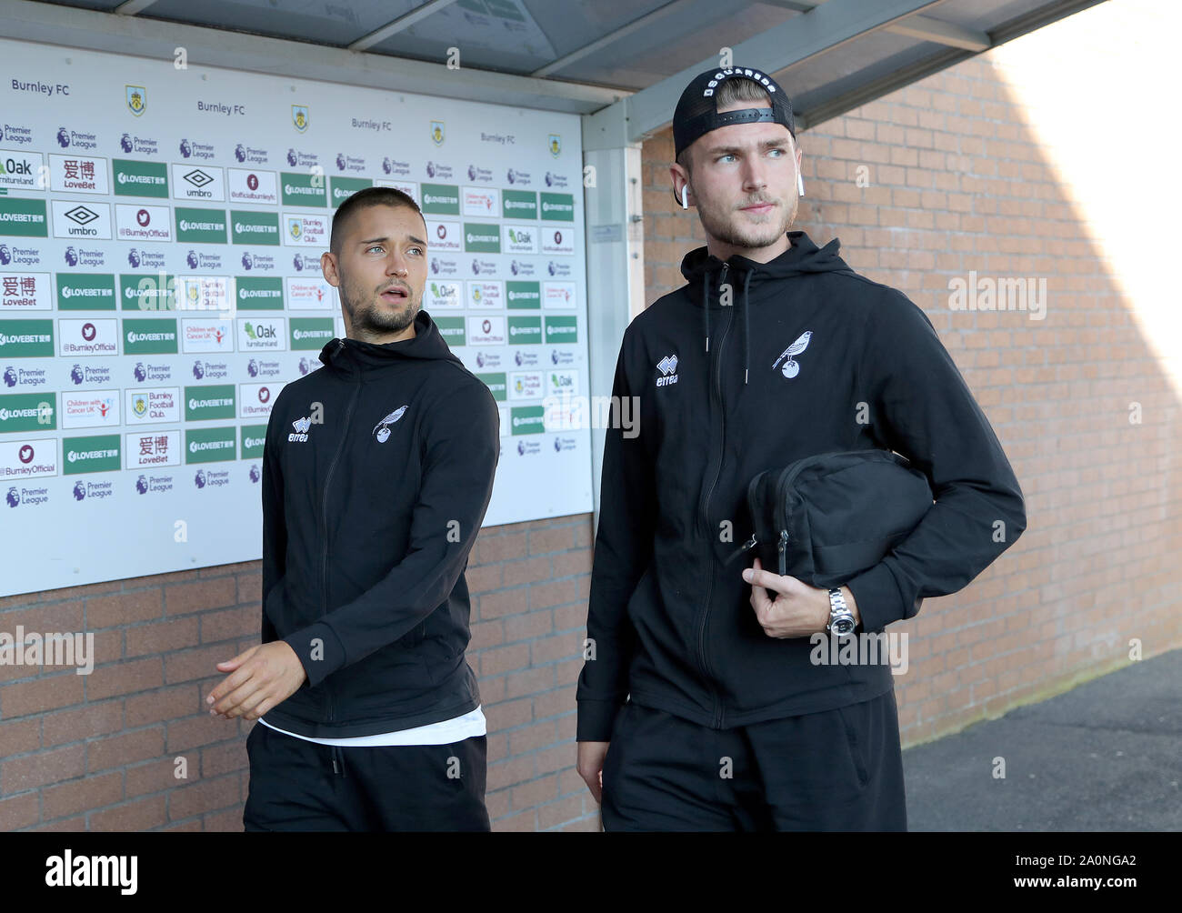
<svg viewBox="0 0 1182 913"><path fill-rule="evenodd" d="M590 546L577 514L486 529L469 559L496 830L598 828L573 769ZM0 830L241 830L254 724L203 699L258 643L260 587L245 562L0 600L0 630L91 632L102 659L0 666Z"/></svg>

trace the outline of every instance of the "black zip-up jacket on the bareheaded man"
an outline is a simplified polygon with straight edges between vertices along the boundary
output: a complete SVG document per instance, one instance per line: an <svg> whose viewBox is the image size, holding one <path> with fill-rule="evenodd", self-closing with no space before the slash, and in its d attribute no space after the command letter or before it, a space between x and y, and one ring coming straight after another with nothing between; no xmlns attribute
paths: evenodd
<svg viewBox="0 0 1182 913"><path fill-rule="evenodd" d="M492 497L500 414L426 311L411 339L332 339L280 391L262 456L262 642L307 680L265 715L370 736L480 702L468 553Z"/></svg>

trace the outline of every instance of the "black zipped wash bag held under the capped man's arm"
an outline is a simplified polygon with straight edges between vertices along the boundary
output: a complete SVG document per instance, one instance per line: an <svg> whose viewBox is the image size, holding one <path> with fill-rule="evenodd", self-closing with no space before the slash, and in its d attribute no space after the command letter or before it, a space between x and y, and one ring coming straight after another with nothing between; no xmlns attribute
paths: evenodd
<svg viewBox="0 0 1182 913"><path fill-rule="evenodd" d="M869 570L931 507L927 477L892 451L819 453L758 473L747 486L752 537L765 570L839 587Z"/></svg>

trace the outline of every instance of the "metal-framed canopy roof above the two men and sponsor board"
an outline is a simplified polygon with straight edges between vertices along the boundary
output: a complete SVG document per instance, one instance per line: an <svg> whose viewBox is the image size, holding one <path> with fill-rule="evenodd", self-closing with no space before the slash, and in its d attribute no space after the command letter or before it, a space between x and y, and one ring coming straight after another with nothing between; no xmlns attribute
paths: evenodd
<svg viewBox="0 0 1182 913"><path fill-rule="evenodd" d="M468 78L450 79L449 96L578 114L628 99L626 141L635 142L668 125L689 77L717 65L723 46L736 65L773 75L806 128L1102 1L4 0L0 9L7 34L58 44L86 28L110 37L122 26L129 53L144 53L168 34L152 22L364 52L374 84L403 91L430 91L405 61L424 61L437 80L430 71L459 47ZM54 14L66 12L61 7L97 14L71 11L72 28L51 31L65 24ZM28 27L39 19L44 28ZM252 60L241 53L246 46L228 43L236 64L191 59L327 79L333 66L356 59L309 48L307 60L284 65L275 47ZM383 67L383 59L403 65ZM436 82L436 93L440 88Z"/></svg>

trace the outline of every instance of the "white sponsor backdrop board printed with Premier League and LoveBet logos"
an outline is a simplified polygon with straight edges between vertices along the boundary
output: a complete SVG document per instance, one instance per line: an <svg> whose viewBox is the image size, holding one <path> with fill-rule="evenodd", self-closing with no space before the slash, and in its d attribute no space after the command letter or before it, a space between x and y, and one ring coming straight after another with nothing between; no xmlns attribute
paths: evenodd
<svg viewBox="0 0 1182 913"><path fill-rule="evenodd" d="M0 595L260 557L271 404L344 334L319 257L371 184L423 208L423 307L500 406L486 525L592 510L577 116L0 60Z"/></svg>

